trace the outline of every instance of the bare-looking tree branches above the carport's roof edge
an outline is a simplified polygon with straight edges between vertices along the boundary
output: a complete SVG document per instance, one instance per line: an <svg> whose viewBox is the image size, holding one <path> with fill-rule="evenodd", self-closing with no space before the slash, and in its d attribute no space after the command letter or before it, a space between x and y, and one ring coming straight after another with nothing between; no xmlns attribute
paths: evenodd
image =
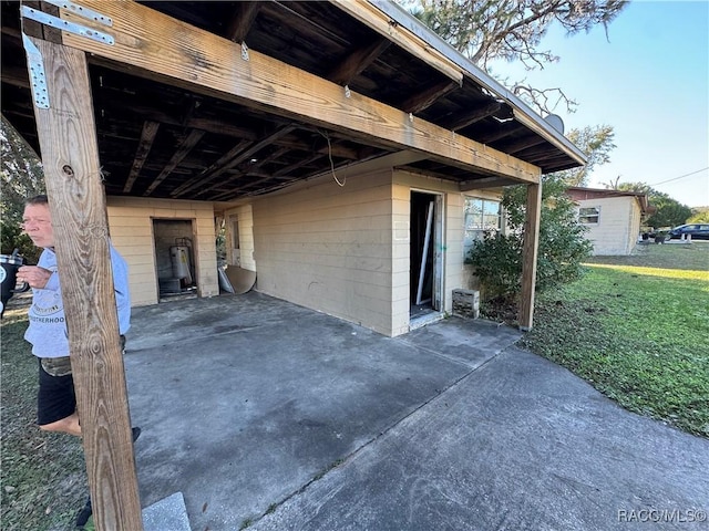
<svg viewBox="0 0 709 531"><path fill-rule="evenodd" d="M409 2L411 3L411 2ZM458 51L484 70L493 61L520 61L527 70L543 69L559 60L540 50L542 38L554 23L568 35L608 24L623 11L625 0L414 0L412 13ZM551 113L549 93L575 102L561 88L538 90L512 83L512 91Z"/></svg>

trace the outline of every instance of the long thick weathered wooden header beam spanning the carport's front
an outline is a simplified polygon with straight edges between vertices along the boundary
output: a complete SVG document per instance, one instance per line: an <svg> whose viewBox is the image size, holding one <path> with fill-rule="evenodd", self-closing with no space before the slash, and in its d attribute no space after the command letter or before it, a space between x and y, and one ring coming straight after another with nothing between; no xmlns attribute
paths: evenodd
<svg viewBox="0 0 709 531"><path fill-rule="evenodd" d="M341 86L254 50L245 61L238 44L145 6L129 0L83 4L112 18L115 44L70 33L63 35L65 42L131 65L134 75L339 131L364 143L420 150L464 170L483 168L521 183L538 181L534 165L423 119L411 121L408 113L360 94L347 97ZM76 20L68 10L61 14Z"/></svg>

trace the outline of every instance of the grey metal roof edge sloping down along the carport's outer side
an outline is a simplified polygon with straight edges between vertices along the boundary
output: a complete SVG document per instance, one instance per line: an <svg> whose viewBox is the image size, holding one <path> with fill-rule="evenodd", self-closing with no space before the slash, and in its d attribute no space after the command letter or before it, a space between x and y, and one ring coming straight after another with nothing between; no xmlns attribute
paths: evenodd
<svg viewBox="0 0 709 531"><path fill-rule="evenodd" d="M405 11L399 4L392 0L368 0L372 6L377 7L380 11L391 17L398 24L403 25L407 30L419 37L431 46L435 48L440 53L445 55L450 61L454 62L458 66L463 69L463 72L469 74L473 80L482 84L493 94L505 100L515 110L515 114L521 118L527 127L531 127L536 133L541 134L547 140L557 145L568 156L578 162L579 165L584 165L587 162L586 155L578 149L568 138L552 127L542 116L532 110L520 97L510 92L508 88L500 84L492 76L490 76L482 69L476 66L470 59L465 58L458 50L451 46L448 42L441 39L430 28L419 21L411 13Z"/></svg>

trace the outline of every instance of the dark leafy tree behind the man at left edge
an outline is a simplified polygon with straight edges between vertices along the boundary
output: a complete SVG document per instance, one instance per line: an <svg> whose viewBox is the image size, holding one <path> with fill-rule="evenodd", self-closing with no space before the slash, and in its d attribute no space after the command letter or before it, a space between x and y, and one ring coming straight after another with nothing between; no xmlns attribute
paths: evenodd
<svg viewBox="0 0 709 531"><path fill-rule="evenodd" d="M35 261L39 250L27 235L22 233L24 200L44 194L42 164L24 139L6 121L0 121L0 148L2 152L2 197L0 198L1 251L3 254L19 249L30 261Z"/></svg>

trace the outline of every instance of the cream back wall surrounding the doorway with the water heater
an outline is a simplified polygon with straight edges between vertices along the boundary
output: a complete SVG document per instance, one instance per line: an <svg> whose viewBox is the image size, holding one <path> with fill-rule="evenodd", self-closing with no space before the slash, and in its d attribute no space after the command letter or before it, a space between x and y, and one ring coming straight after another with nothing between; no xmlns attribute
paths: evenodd
<svg viewBox="0 0 709 531"><path fill-rule="evenodd" d="M153 219L192 220L198 294L212 296L219 293L212 204L111 196L106 198L106 206L111 241L129 264L134 306L158 301Z"/></svg>

